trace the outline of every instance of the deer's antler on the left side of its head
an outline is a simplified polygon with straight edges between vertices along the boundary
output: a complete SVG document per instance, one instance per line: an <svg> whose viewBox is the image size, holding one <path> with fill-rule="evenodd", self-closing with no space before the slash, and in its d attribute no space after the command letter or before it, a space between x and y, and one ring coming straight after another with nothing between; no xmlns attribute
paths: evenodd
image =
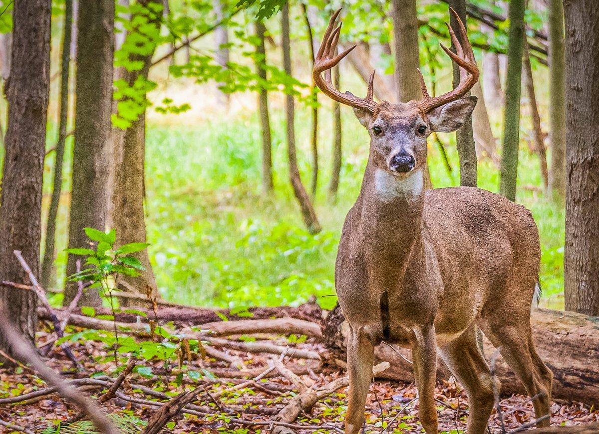
<svg viewBox="0 0 599 434"><path fill-rule="evenodd" d="M316 59L314 60L314 69L312 71L314 83L322 92L324 92L326 96L332 100L335 100L341 104L346 104L347 106L353 108L359 108L359 110L364 110L368 113L374 113L378 105L373 99L374 72L370 76L370 80L368 82L368 92L366 94L366 98L355 97L354 95L350 94L350 92L343 94L335 89L335 86L332 84L331 68L337 65L341 59L347 56L349 52L356 47L354 45L345 50L343 53L335 56L337 43L339 41L339 34L341 32L341 23L337 28L335 28L335 21L337 21L337 17L340 13L341 9L337 10L333 14L331 20L329 21L329 26L326 28L325 35L322 38L322 44L320 45L320 49L318 50ZM322 73L325 73L324 79L322 78Z"/></svg>

